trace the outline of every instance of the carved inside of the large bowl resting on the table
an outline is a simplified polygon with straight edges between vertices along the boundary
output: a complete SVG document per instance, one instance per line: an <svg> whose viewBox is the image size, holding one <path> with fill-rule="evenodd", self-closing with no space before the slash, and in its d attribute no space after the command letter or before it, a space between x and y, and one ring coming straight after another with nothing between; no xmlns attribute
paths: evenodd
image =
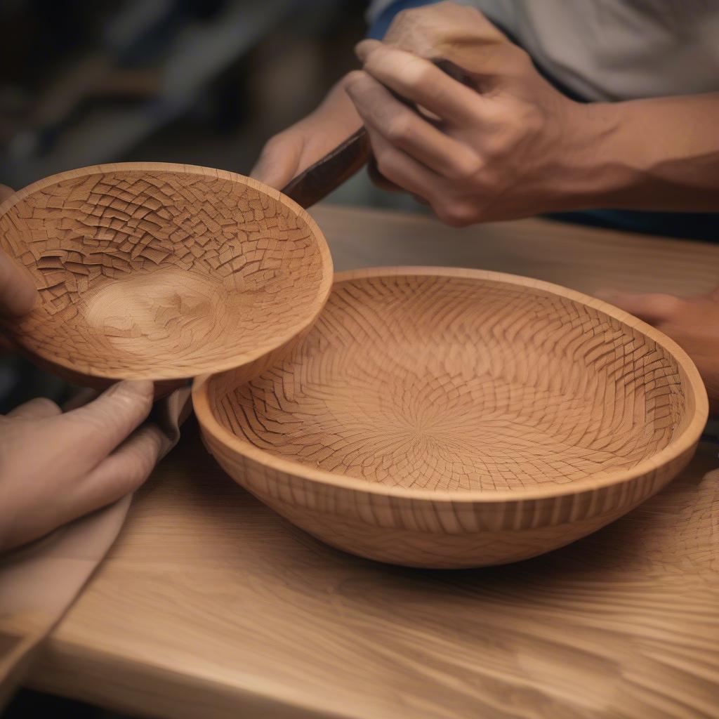
<svg viewBox="0 0 719 719"><path fill-rule="evenodd" d="M692 401L677 360L613 316L458 276L336 282L292 354L246 376L215 375L207 390L241 446L423 490L628 469L683 431Z"/></svg>

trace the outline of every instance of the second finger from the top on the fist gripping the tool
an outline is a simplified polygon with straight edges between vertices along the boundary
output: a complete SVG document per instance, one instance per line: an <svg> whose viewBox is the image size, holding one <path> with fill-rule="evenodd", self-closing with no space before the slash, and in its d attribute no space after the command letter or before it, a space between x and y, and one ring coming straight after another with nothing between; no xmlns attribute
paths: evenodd
<svg viewBox="0 0 719 719"><path fill-rule="evenodd" d="M450 179L463 179L477 171L479 158L473 150L401 104L367 73L358 70L349 75L347 94L365 127L372 127L434 172Z"/></svg>

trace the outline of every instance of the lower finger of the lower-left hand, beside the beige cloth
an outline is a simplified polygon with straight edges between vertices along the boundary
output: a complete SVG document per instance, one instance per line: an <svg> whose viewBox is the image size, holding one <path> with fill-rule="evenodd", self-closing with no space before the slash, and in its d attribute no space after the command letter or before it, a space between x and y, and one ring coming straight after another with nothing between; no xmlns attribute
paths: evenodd
<svg viewBox="0 0 719 719"><path fill-rule="evenodd" d="M81 516L134 492L170 448L155 424L140 427L74 487L73 513Z"/></svg>

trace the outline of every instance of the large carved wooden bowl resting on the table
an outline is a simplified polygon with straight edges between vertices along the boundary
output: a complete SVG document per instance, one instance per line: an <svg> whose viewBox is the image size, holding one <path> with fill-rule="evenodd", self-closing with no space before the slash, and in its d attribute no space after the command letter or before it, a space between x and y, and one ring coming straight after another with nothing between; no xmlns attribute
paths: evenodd
<svg viewBox="0 0 719 719"><path fill-rule="evenodd" d="M327 543L411 566L513 562L595 531L687 464L707 418L666 336L477 270L336 275L311 331L262 368L196 380L210 452Z"/></svg>

